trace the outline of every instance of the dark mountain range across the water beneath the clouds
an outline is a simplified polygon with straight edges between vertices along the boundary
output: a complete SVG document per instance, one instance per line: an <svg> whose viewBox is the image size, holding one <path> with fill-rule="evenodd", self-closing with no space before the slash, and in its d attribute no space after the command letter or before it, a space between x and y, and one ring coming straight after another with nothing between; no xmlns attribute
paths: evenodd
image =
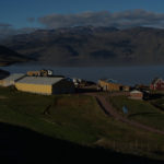
<svg viewBox="0 0 164 164"><path fill-rule="evenodd" d="M164 30L74 26L9 37L3 46L51 66L164 63Z"/></svg>

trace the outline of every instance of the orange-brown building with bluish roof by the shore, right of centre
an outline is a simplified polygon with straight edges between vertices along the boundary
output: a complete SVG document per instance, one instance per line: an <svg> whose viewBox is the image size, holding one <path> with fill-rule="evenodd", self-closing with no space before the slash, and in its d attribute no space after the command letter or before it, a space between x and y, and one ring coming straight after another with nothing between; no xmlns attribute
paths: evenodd
<svg viewBox="0 0 164 164"><path fill-rule="evenodd" d="M101 87L103 91L120 91L121 85L118 84L114 80L99 80L98 81L98 87Z"/></svg>

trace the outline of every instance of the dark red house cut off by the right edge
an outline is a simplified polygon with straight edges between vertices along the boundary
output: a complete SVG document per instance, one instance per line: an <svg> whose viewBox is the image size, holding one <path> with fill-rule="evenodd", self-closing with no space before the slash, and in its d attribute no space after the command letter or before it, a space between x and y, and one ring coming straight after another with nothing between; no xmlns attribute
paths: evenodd
<svg viewBox="0 0 164 164"><path fill-rule="evenodd" d="M151 90L164 90L164 81L161 78L155 78L150 84Z"/></svg>

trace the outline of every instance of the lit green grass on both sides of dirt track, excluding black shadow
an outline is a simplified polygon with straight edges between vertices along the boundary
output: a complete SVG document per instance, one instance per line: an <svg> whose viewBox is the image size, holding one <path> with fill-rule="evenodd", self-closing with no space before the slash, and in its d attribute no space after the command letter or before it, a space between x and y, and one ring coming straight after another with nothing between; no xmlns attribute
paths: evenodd
<svg viewBox="0 0 164 164"><path fill-rule="evenodd" d="M130 119L142 120L145 117L145 122L150 120L159 125L159 121L155 122L152 118L153 115L139 115L139 118L132 116L137 113L137 108L142 113L145 106L148 106L145 113L153 110L151 113L156 113L155 117L162 119L160 115L163 114L149 104L134 103L125 97L115 97L113 101L118 102L117 107L130 103L127 104L132 108ZM122 153L164 160L163 136L106 116L96 99L86 95L44 96L0 87L0 121L83 145L103 147ZM161 124L164 125L164 121L161 120Z"/></svg>

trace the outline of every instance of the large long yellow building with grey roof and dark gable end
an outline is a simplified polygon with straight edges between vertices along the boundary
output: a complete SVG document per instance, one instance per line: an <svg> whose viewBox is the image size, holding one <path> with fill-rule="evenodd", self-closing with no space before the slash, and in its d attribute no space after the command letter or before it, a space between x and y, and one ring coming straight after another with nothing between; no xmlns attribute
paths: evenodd
<svg viewBox="0 0 164 164"><path fill-rule="evenodd" d="M65 78L25 77L15 83L19 91L37 94L73 93L74 84Z"/></svg>

